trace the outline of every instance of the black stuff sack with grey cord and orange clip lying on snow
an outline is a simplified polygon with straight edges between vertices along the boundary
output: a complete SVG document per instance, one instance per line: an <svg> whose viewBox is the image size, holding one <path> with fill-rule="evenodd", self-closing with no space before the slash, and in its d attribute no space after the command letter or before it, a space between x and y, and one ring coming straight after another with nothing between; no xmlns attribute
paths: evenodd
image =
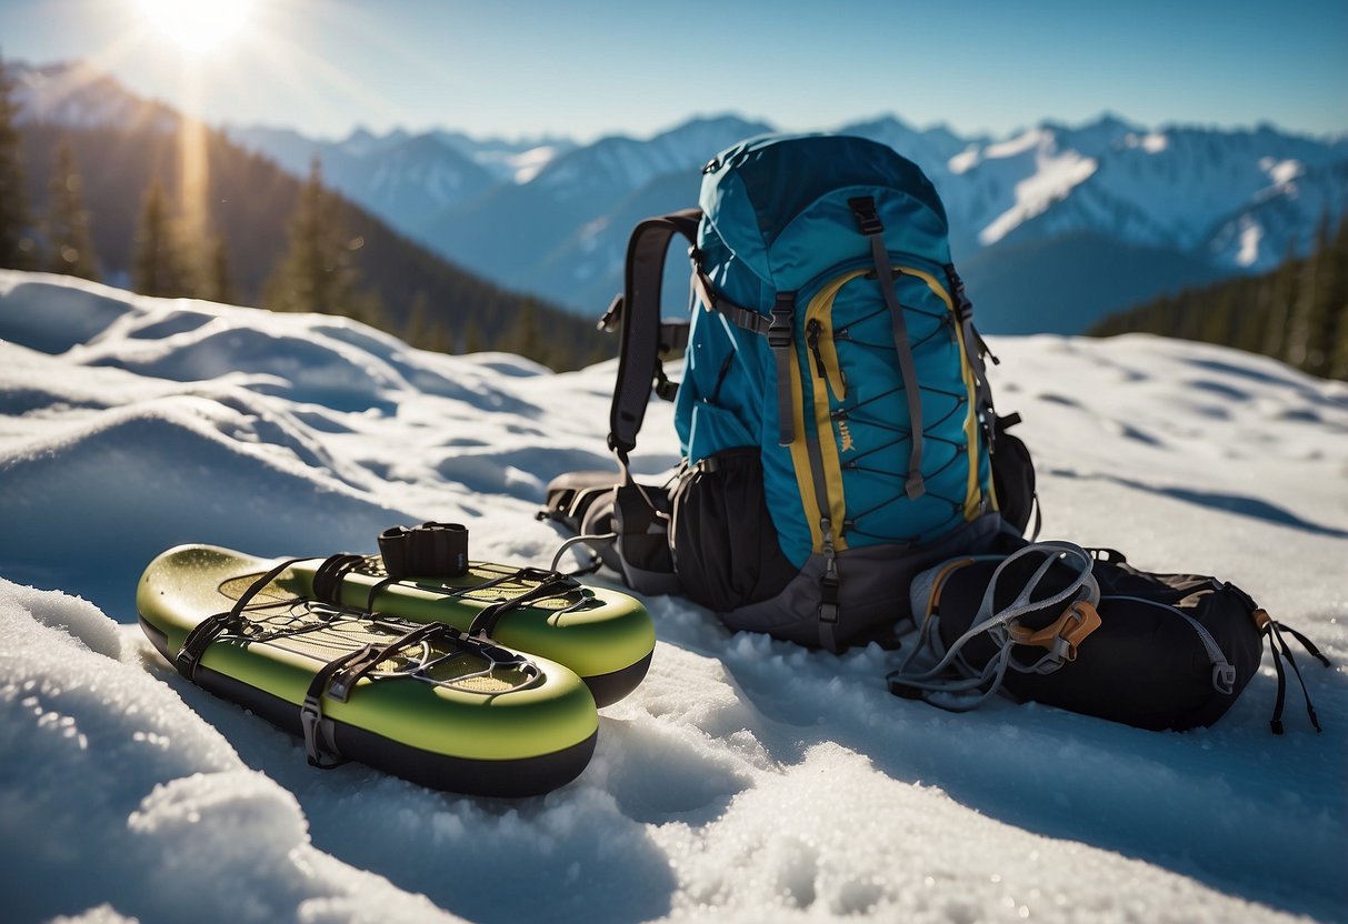
<svg viewBox="0 0 1348 924"><path fill-rule="evenodd" d="M953 559L918 575L910 597L919 644L890 691L950 710L1003 691L1140 729L1209 726L1259 669L1267 640L1281 734L1283 661L1301 679L1286 636L1329 664L1235 585L1139 571L1119 552L1070 543ZM934 664L913 667L923 652ZM1309 695L1306 711L1318 731Z"/></svg>

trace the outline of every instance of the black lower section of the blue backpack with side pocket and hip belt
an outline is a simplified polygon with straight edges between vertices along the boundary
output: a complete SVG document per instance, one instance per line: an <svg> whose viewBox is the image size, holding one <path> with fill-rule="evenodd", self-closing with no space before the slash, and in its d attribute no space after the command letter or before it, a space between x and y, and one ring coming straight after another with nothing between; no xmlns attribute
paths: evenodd
<svg viewBox="0 0 1348 924"><path fill-rule="evenodd" d="M811 555L795 567L780 551L763 501L755 447L718 453L682 469L673 485L617 481L611 471L559 475L539 519L585 537L607 564L644 594L682 594L716 613L731 632L763 632L807 648L842 652L879 642L896 648L913 620L909 585L964 552L1023 541L996 512L926 546L867 546Z"/></svg>

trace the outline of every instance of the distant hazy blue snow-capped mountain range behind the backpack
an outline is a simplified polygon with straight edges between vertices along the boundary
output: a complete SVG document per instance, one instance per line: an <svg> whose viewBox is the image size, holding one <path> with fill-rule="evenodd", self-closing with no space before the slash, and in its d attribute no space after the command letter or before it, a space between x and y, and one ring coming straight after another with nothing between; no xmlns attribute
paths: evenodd
<svg viewBox="0 0 1348 924"><path fill-rule="evenodd" d="M116 124L128 117L128 97L82 67L20 73L20 102L44 120ZM1304 253L1321 218L1336 220L1348 203L1348 135L1153 129L1112 114L1004 139L917 129L894 116L829 129L888 144L927 172L992 333L1077 333L1161 292L1271 268ZM723 114L590 144L226 131L295 174L319 158L329 185L460 265L597 312L620 287L631 226L694 205L701 164L774 127Z"/></svg>

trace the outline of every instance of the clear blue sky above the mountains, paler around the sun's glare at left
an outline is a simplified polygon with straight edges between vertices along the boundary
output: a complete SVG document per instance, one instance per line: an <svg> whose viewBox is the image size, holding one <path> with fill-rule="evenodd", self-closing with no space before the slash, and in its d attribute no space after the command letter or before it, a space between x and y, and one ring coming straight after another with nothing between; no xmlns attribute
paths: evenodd
<svg viewBox="0 0 1348 924"><path fill-rule="evenodd" d="M1109 110L1348 132L1348 0L253 0L190 59L150 40L139 1L0 0L0 53L90 59L212 123L326 137L586 140L723 112L786 129L894 113L1002 136Z"/></svg>

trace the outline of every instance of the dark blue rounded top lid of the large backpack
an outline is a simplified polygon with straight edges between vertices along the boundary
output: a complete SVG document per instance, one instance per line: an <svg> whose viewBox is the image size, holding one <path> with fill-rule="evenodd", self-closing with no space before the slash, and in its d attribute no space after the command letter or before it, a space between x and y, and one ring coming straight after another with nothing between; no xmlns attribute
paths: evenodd
<svg viewBox="0 0 1348 924"><path fill-rule="evenodd" d="M875 201L886 249L937 267L950 263L936 187L917 164L878 141L764 135L723 151L702 172L698 248L713 260L728 249L767 291L797 291L824 269L867 257L849 206L864 197Z"/></svg>

